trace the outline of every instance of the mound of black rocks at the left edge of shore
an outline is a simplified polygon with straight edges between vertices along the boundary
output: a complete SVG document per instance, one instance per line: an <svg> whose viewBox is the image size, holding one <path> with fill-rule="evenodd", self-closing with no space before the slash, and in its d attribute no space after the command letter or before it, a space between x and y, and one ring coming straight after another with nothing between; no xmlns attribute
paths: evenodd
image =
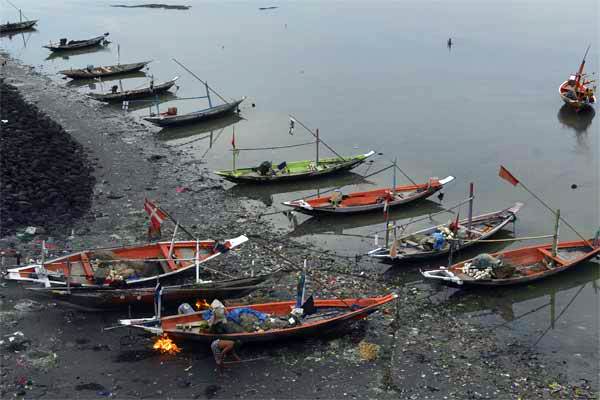
<svg viewBox="0 0 600 400"><path fill-rule="evenodd" d="M90 206L92 167L60 125L0 82L0 236L69 226Z"/></svg>

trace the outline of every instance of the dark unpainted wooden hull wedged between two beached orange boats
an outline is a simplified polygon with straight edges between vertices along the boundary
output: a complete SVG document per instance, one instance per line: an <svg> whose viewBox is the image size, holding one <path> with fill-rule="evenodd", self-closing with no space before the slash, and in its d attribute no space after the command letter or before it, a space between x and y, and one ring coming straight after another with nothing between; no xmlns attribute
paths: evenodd
<svg viewBox="0 0 600 400"><path fill-rule="evenodd" d="M261 284L272 278L276 273L279 273L279 271L247 278L164 286L162 288L162 304L167 307L177 307L185 302L193 305L200 299L208 302L214 299L238 299L262 288ZM90 310L118 309L129 305L148 309L153 307L155 300L155 289L151 287L31 287L27 290L55 301Z"/></svg>

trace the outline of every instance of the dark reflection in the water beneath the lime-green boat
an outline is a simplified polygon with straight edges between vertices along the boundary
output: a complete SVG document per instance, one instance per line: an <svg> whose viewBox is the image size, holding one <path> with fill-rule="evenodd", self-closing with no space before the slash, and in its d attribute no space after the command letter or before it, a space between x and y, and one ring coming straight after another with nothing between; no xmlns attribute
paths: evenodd
<svg viewBox="0 0 600 400"><path fill-rule="evenodd" d="M266 206L271 206L274 202L274 196L281 194L289 194L290 198L285 200L292 200L301 196L300 193L297 192L305 192L308 195L317 195L318 193L323 193L331 188L371 183L371 181L365 179L360 174L345 172L337 176L325 176L307 181L280 182L276 185L238 184L228 189L227 193L236 197L247 197L252 200L258 200Z"/></svg>

